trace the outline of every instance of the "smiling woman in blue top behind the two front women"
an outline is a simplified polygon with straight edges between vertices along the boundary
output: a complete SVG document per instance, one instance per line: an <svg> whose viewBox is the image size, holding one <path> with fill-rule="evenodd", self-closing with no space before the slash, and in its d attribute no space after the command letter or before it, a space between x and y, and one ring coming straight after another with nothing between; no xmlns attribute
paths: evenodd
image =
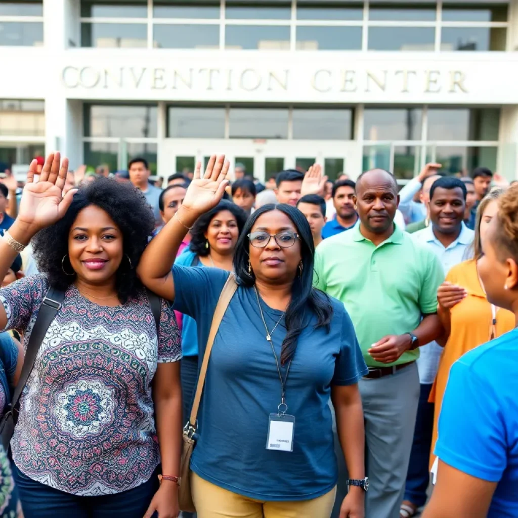
<svg viewBox="0 0 518 518"><path fill-rule="evenodd" d="M189 250L176 259L182 266L209 266L232 270L236 243L247 214L237 205L222 200L202 214L191 231ZM182 361L180 366L183 396L183 422L189 419L198 379L198 338L196 321L182 316Z"/></svg>

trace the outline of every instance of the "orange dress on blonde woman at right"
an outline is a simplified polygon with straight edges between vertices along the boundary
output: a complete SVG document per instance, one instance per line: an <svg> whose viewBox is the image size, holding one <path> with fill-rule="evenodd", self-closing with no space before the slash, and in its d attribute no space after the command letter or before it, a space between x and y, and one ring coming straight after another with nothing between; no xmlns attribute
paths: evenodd
<svg viewBox="0 0 518 518"><path fill-rule="evenodd" d="M450 337L444 347L434 386L428 399L431 403L435 403L430 467L435 461L437 424L450 368L463 354L489 341L493 330L493 311L480 285L477 262L469 260L454 266L448 272L446 280L452 284L463 286L468 292L468 296L450 309ZM514 328L514 325L513 313L506 309L496 308L496 335L494 338L507 333Z"/></svg>

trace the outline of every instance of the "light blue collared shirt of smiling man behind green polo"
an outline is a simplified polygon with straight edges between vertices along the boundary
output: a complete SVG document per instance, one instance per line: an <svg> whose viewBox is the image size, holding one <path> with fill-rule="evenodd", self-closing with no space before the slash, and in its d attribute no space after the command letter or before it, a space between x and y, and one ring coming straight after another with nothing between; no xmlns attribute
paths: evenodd
<svg viewBox="0 0 518 518"><path fill-rule="evenodd" d="M473 242L475 233L463 223L457 239L449 247L444 248L444 245L435 237L433 227L434 225L431 224L418 232L414 232L411 236L416 241L425 244L439 257L439 261L444 268L444 275L446 275L452 266L462 263L468 258L467 248ZM442 347L434 341L420 347L419 350L421 352L417 361L419 379L422 384L433 383L439 367Z"/></svg>

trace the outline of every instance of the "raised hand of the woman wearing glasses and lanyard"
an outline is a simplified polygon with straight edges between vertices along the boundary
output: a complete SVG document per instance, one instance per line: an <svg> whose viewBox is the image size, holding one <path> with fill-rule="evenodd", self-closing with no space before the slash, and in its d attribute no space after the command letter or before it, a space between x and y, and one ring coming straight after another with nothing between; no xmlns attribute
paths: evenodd
<svg viewBox="0 0 518 518"><path fill-rule="evenodd" d="M196 214L203 214L218 205L229 183L226 179L228 167L229 163L225 162L225 155L218 157L212 155L202 178L200 173L202 164L198 162L194 178L185 193L182 207L192 210Z"/></svg>

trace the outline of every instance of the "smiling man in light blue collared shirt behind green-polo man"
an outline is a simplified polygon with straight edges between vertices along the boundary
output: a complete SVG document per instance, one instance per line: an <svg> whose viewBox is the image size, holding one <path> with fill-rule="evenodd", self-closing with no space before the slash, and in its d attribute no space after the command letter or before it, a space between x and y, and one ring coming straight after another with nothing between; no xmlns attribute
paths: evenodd
<svg viewBox="0 0 518 518"><path fill-rule="evenodd" d="M431 225L412 234L439 258L444 274L468 255L474 232L464 223L466 185L457 178L442 177L430 188L429 217ZM428 461L434 423L434 405L428 402L442 354L437 342L420 348L417 361L421 396L415 423L412 453L408 468L405 500L401 509L413 512L426 502L429 483ZM407 506L407 508L405 508Z"/></svg>

